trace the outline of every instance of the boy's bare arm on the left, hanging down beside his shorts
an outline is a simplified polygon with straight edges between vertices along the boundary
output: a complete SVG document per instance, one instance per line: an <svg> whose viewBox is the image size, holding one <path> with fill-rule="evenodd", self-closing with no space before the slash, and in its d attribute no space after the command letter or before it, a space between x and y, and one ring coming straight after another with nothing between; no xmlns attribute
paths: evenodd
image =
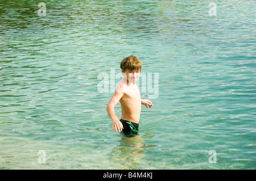
<svg viewBox="0 0 256 181"><path fill-rule="evenodd" d="M109 117L112 119L113 131L115 130L116 132L117 131L121 132L123 129L123 124L121 123L121 121L119 121L117 115L115 115L115 110L114 110L115 105L117 105L118 101L122 98L122 96L123 96L123 92L115 90L115 93L112 99L110 99L108 106L106 107Z"/></svg>

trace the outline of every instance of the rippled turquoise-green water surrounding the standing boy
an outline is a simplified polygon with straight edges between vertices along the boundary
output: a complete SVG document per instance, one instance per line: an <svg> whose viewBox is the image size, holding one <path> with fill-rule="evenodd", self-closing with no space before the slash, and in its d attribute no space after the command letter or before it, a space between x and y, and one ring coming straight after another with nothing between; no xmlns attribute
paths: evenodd
<svg viewBox="0 0 256 181"><path fill-rule="evenodd" d="M1 169L256 169L255 1L39 2L1 0ZM97 86L130 54L159 91L125 136Z"/></svg>

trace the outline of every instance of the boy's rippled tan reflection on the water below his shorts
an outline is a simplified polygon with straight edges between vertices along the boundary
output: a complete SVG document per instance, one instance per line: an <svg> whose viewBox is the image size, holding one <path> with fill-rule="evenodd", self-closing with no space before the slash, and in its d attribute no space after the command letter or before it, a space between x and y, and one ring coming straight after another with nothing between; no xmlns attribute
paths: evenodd
<svg viewBox="0 0 256 181"><path fill-rule="evenodd" d="M140 169L138 160L144 157L144 139L139 134L122 134L120 145L113 148L115 162L119 162L116 169Z"/></svg>

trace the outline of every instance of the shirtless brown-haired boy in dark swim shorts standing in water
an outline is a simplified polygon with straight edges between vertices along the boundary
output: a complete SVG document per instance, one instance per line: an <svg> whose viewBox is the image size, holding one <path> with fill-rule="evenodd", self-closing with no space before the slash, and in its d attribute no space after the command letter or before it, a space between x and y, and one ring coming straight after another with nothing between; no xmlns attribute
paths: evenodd
<svg viewBox="0 0 256 181"><path fill-rule="evenodd" d="M152 107L150 100L141 99L141 93L135 84L142 69L142 62L139 58L131 55L123 58L120 64L122 74L125 75L119 82L115 93L110 99L106 110L112 119L113 131L137 132L139 128L139 117L141 116L141 104L147 108ZM115 115L114 107L121 104L122 117L119 120Z"/></svg>

